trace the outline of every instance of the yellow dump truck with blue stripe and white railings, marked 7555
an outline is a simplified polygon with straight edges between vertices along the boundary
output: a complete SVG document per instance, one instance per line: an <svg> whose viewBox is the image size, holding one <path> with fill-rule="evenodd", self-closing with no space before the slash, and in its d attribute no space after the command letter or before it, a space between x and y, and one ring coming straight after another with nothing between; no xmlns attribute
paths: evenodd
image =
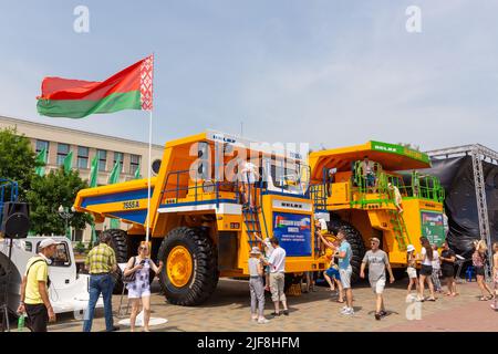
<svg viewBox="0 0 498 354"><path fill-rule="evenodd" d="M243 162L257 166L255 183L240 178ZM159 283L168 302L199 304L219 277L247 277L250 248L262 249L267 237L276 236L286 249L286 272L323 270L309 170L297 152L276 153L219 132L168 142L151 181L149 222L152 257L164 262ZM117 218L128 225L126 231L104 231L118 262L126 262L145 239L147 179L81 190L74 207L97 223Z"/></svg>

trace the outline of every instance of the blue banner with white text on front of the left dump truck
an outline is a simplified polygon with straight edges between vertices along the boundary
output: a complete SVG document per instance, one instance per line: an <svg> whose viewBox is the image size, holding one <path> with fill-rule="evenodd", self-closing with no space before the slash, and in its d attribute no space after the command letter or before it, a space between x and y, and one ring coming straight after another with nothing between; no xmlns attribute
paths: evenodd
<svg viewBox="0 0 498 354"><path fill-rule="evenodd" d="M311 216L273 212L273 236L287 256L311 256Z"/></svg>

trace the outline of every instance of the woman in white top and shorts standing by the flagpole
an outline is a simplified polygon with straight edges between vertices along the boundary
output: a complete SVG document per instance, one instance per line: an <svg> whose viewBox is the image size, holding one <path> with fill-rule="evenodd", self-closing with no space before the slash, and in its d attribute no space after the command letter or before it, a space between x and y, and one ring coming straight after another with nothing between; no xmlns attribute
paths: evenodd
<svg viewBox="0 0 498 354"><path fill-rule="evenodd" d="M142 300L142 308L144 311L144 331L149 332L148 321L151 319L151 269L156 273L160 272L163 262L157 267L149 258L148 243L141 242L138 247L138 254L132 257L124 270L126 289L128 290L128 299L132 302L132 313L129 315L129 327L135 332L135 321L138 313L139 303Z"/></svg>

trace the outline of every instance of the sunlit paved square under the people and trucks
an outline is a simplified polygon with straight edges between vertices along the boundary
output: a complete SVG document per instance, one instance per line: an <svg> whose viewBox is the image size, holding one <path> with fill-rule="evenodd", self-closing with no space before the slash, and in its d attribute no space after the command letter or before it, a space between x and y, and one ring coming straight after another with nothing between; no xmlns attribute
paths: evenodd
<svg viewBox="0 0 498 354"><path fill-rule="evenodd" d="M498 312L491 311L490 301L480 302L476 282L458 285L459 295L447 298L437 294L436 302L407 303L407 279L401 279L385 291L388 315L381 321L374 319L374 295L366 282L353 287L354 310L352 317L340 314L342 304L324 287L301 296L288 296L289 316L272 319L272 303L267 293L266 313L270 323L257 324L250 321L248 282L222 279L212 296L203 305L184 308L170 305L153 284L152 316L165 317L168 323L153 326L153 331L298 331L298 332L356 332L356 331L498 331ZM123 303L126 304L126 298ZM114 295L114 312L117 312L120 296ZM419 308L417 308L419 306ZM407 320L407 312L421 320ZM117 323L118 319L115 317ZM72 314L60 315L58 323L49 331L81 331L82 322ZM105 329L103 312L98 311L93 331ZM128 327L122 326L122 331Z"/></svg>

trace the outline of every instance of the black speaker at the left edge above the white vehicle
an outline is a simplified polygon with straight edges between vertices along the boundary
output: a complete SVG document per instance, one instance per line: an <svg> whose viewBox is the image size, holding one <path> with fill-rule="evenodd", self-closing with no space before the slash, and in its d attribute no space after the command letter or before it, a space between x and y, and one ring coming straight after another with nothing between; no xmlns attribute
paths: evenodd
<svg viewBox="0 0 498 354"><path fill-rule="evenodd" d="M10 239L23 239L30 230L30 206L27 202L3 204L2 232Z"/></svg>

